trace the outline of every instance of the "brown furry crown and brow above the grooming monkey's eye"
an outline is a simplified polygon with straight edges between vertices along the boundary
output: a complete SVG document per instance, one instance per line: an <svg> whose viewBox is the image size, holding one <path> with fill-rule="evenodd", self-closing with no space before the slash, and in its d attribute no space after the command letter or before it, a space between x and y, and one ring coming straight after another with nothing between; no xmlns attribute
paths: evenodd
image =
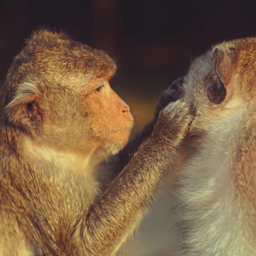
<svg viewBox="0 0 256 256"><path fill-rule="evenodd" d="M64 33L39 30L33 32L26 43L16 61L26 64L27 73L37 72L62 80L69 74L84 75L85 80L108 80L116 72L116 63L108 54L70 40Z"/></svg>

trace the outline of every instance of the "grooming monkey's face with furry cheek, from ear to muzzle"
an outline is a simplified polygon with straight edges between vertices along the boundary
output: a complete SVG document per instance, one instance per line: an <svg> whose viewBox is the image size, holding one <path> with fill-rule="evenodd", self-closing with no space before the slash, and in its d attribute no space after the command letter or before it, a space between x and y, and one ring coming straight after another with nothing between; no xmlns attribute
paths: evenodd
<svg viewBox="0 0 256 256"><path fill-rule="evenodd" d="M100 86L100 87L99 87ZM113 153L128 141L133 125L129 107L107 81L89 92L59 88L41 102L44 122L37 131L57 150Z"/></svg>

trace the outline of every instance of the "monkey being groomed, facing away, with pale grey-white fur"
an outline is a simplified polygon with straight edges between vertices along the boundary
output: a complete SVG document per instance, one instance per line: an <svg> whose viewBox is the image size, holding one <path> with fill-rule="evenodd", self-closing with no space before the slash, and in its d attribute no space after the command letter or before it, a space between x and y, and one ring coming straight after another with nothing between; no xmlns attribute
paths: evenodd
<svg viewBox="0 0 256 256"><path fill-rule="evenodd" d="M256 38L218 44L184 78L195 119L172 190L180 250L256 255Z"/></svg>

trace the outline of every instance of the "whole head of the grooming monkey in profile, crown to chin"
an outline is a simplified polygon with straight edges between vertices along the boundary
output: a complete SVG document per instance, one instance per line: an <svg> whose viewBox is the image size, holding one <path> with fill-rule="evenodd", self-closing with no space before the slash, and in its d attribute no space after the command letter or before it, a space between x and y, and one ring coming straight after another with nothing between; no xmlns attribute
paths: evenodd
<svg viewBox="0 0 256 256"><path fill-rule="evenodd" d="M110 87L115 72L102 50L64 33L33 32L7 74L5 122L58 151L116 151L133 118Z"/></svg>

